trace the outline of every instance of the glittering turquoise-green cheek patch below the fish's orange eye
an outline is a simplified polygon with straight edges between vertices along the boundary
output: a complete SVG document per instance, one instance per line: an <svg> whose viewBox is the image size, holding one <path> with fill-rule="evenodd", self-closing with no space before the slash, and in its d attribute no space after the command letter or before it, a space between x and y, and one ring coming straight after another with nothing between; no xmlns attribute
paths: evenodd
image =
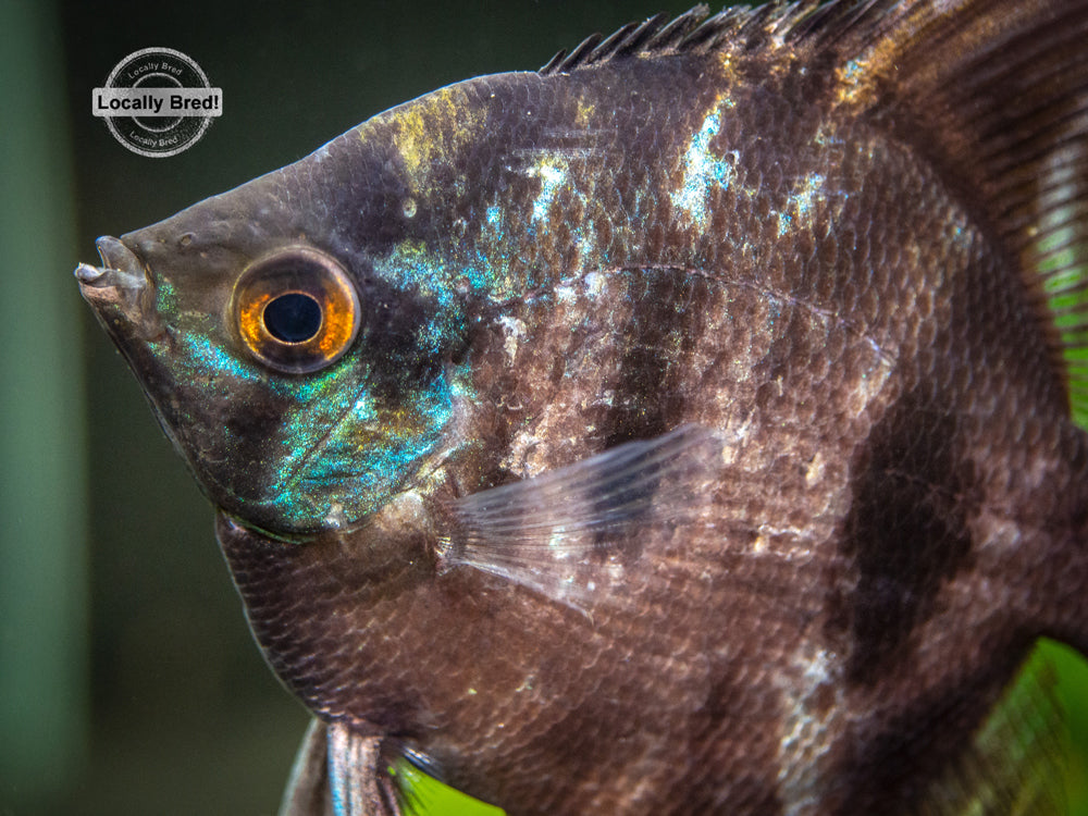
<svg viewBox="0 0 1088 816"><path fill-rule="evenodd" d="M400 401L383 405L367 387L370 363L359 355L323 372L285 376L209 336L210 322L202 316L175 323L171 342L154 354L171 382L199 384L209 403L222 406L210 415L172 417L171 424L184 438L219 437L208 449L220 450L217 456L240 481L208 474L208 484L230 496L243 517L246 507L255 514L267 508L284 532L356 523L412 478L453 413L453 390L444 375L422 387L405 383ZM260 411L264 400L283 411L280 429L259 458L243 461L250 446L239 443L254 440L236 438L222 417L244 418ZM189 424L191 430L182 429Z"/></svg>

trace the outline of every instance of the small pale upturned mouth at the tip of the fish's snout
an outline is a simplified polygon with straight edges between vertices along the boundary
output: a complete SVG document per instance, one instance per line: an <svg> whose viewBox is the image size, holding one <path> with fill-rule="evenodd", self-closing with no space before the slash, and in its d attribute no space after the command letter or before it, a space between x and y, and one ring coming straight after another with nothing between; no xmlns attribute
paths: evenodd
<svg viewBox="0 0 1088 816"><path fill-rule="evenodd" d="M149 329L146 307L154 286L147 268L119 238L103 235L95 246L102 265L75 268L81 294L103 318L120 316L135 327Z"/></svg>

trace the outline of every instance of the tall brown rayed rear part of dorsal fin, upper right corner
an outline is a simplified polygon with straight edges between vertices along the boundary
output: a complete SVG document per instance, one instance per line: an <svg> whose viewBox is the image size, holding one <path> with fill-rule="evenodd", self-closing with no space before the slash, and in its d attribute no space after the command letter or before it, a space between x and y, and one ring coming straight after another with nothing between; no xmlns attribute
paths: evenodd
<svg viewBox="0 0 1088 816"><path fill-rule="evenodd" d="M1017 264L1088 426L1088 3L832 3L793 30L844 104L892 111Z"/></svg>

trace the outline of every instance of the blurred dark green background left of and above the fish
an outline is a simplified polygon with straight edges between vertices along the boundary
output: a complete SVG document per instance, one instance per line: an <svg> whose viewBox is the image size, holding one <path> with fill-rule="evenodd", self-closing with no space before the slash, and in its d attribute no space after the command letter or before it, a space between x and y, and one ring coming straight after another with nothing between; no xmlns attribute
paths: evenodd
<svg viewBox="0 0 1088 816"><path fill-rule="evenodd" d="M442 85L689 4L0 0L0 814L272 814L307 721L250 640L210 506L78 298L95 237ZM150 46L224 91L173 158L129 152L90 113Z"/></svg>

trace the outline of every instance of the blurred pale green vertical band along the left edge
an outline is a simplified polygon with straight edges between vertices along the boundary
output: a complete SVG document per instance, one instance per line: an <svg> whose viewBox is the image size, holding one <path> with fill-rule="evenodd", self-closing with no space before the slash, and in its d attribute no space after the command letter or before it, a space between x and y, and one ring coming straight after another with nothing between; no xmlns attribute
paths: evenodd
<svg viewBox="0 0 1088 816"><path fill-rule="evenodd" d="M0 813L37 812L87 739L79 321L53 9L0 3ZM20 805L20 809L13 809Z"/></svg>

